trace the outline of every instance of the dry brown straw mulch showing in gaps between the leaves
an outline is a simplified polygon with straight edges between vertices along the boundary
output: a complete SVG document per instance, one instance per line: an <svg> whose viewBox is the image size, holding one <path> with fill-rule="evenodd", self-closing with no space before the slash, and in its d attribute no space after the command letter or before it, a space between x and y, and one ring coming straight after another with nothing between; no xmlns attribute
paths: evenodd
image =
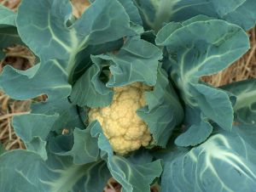
<svg viewBox="0 0 256 192"><path fill-rule="evenodd" d="M71 0L73 3L73 14L79 18L88 7L88 0ZM3 5L17 10L20 0L0 0ZM237 82L249 78L256 78L256 28L248 31L251 40L251 49L241 59L237 60L224 71L216 75L204 76L202 80L213 86L222 86L230 82ZM15 46L5 50L6 58L0 61L0 73L4 65L12 65L16 69L26 70L34 65L35 57L27 48ZM15 135L11 126L11 119L17 114L24 114L30 110L31 100L18 101L10 99L8 95L0 92L0 142L5 150L24 149L24 144ZM120 192L121 186L111 178L104 192ZM158 189L152 188L152 192Z"/></svg>

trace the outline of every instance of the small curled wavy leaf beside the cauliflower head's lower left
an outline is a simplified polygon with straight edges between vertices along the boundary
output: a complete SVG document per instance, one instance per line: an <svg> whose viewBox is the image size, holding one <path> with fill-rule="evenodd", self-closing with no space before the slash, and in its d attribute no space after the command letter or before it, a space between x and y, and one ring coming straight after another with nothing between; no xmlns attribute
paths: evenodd
<svg viewBox="0 0 256 192"><path fill-rule="evenodd" d="M100 127L99 122L90 123L89 127L84 130L75 128L73 136L61 135L53 138L49 142L49 149L56 155L73 156L73 163L76 165L95 162L99 157L99 148L97 139L91 137L90 134L93 127ZM62 144L63 142L67 144L67 139L70 140L68 143L71 143L71 150L68 150L69 147Z"/></svg>

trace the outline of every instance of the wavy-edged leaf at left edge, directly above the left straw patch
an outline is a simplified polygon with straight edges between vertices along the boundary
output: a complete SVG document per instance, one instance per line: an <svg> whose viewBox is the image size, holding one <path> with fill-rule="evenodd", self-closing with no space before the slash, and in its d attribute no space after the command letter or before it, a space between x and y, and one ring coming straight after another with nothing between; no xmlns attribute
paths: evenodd
<svg viewBox="0 0 256 192"><path fill-rule="evenodd" d="M71 91L71 86L67 83L67 73L61 69L57 60L43 61L26 71L6 66L0 76L0 84L11 98L21 100L42 94L47 94L49 100L63 99Z"/></svg>

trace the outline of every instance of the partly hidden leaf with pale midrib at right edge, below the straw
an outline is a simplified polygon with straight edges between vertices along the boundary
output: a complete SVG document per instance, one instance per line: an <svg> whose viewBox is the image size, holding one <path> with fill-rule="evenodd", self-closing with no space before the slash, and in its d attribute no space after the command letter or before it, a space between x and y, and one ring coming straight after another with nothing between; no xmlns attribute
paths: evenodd
<svg viewBox="0 0 256 192"><path fill-rule="evenodd" d="M222 87L236 96L234 107L236 121L246 124L256 123L256 79L234 82Z"/></svg>

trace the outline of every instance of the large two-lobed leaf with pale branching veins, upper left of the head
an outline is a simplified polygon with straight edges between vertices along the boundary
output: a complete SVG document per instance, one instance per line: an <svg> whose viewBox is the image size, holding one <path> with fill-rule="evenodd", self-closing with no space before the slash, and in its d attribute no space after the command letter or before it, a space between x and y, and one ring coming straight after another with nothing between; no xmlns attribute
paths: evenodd
<svg viewBox="0 0 256 192"><path fill-rule="evenodd" d="M68 0L25 0L20 4L17 26L35 54L44 60L64 60L61 67L68 74L74 70L76 55L88 46L135 34L129 15L117 0L97 0L75 22Z"/></svg>

